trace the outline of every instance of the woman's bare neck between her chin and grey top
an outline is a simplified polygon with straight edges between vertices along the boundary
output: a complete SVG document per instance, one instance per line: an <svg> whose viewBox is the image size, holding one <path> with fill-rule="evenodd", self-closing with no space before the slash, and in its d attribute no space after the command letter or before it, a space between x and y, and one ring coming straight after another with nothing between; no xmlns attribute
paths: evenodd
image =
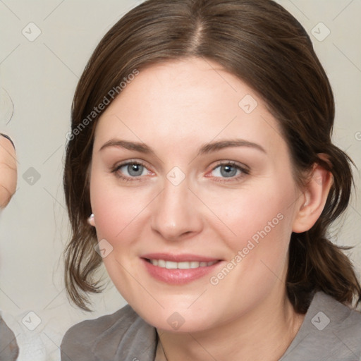
<svg viewBox="0 0 361 361"><path fill-rule="evenodd" d="M286 352L305 315L288 298L265 300L257 309L214 329L197 332L157 330L168 361L276 361Z"/></svg>

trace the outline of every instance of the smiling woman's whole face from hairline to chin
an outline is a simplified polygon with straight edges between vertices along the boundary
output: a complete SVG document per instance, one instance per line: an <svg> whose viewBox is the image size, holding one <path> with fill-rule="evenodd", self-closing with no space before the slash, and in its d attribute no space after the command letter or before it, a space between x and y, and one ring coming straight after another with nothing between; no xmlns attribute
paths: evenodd
<svg viewBox="0 0 361 361"><path fill-rule="evenodd" d="M97 123L90 197L111 280L158 329L210 329L285 295L302 201L290 154L219 64L140 71Z"/></svg>

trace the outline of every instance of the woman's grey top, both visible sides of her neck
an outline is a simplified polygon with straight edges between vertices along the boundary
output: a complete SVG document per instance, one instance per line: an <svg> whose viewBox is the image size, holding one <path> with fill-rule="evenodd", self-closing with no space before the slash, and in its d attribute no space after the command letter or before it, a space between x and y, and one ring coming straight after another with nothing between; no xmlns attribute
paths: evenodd
<svg viewBox="0 0 361 361"><path fill-rule="evenodd" d="M62 361L154 361L157 331L129 306L75 324L61 343ZM361 314L317 292L279 361L361 361Z"/></svg>

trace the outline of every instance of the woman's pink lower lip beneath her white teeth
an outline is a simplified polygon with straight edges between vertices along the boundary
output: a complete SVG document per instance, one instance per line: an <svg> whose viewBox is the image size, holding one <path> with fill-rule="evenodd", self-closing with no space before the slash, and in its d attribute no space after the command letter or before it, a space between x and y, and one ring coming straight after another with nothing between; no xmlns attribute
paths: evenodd
<svg viewBox="0 0 361 361"><path fill-rule="evenodd" d="M221 263L221 261L219 261L215 264L212 264L212 266L190 269L167 269L154 266L144 258L142 258L142 262L145 264L145 268L149 274L154 277L154 279L173 285L181 285L195 281L196 279L200 279L201 277L206 276L207 274L214 271L214 269Z"/></svg>

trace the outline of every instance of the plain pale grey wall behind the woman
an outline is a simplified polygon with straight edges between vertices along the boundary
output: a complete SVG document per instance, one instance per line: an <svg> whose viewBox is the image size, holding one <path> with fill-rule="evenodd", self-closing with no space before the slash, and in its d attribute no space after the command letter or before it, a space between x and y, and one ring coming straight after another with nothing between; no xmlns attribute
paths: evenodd
<svg viewBox="0 0 361 361"><path fill-rule="evenodd" d="M19 360L59 360L69 326L125 305L112 284L94 296L96 312L81 312L66 298L61 252L69 226L62 172L78 78L106 31L140 2L0 0L0 131L13 138L18 154L18 189L0 220L0 309L23 345ZM361 0L278 2L314 42L336 98L334 142L360 168ZM348 253L360 276L357 171L355 181L358 190L332 237L355 246Z"/></svg>

